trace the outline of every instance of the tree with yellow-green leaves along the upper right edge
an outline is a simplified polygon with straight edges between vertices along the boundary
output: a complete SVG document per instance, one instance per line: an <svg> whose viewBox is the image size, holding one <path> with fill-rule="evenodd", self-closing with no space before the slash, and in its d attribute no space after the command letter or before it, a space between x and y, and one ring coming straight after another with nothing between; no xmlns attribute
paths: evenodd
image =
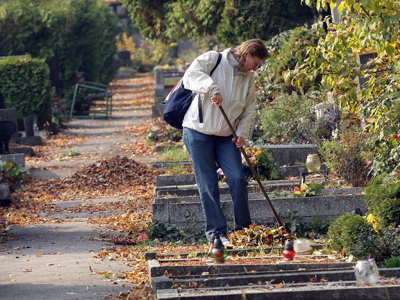
<svg viewBox="0 0 400 300"><path fill-rule="evenodd" d="M304 0L301 0L303 2ZM336 0L305 0L307 5L333 8ZM328 31L313 28L320 39L307 48L307 58L283 72L285 80L301 85L322 76L334 91L342 110L365 121L374 137L371 160L374 174L400 168L400 2L391 0L342 0L337 24L325 18ZM360 65L356 56L376 52ZM358 78L367 79L359 88Z"/></svg>

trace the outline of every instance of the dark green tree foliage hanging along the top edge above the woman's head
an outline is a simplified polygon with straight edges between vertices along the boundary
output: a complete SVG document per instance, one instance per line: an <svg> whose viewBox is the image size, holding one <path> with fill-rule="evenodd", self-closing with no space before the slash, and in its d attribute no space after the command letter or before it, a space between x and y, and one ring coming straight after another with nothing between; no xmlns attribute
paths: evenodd
<svg viewBox="0 0 400 300"><path fill-rule="evenodd" d="M123 0L140 32L171 40L217 34L219 42L237 44L268 39L315 18L315 9L297 0Z"/></svg>

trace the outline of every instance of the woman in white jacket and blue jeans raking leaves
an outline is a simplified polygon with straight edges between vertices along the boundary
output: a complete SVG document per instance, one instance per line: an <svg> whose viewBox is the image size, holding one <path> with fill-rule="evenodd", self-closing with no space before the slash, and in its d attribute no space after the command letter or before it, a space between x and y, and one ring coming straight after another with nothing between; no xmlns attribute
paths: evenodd
<svg viewBox="0 0 400 300"><path fill-rule="evenodd" d="M244 179L239 147L246 143L254 114L254 77L269 54L262 40L255 38L225 49L211 76L218 52L198 56L186 70L185 88L198 93L183 118L183 142L193 160L194 174L200 193L207 239L212 231L224 245L226 220L219 205L215 162L223 170L232 197L234 227L251 224L248 208L247 181ZM217 106L222 106L237 134L235 140Z"/></svg>

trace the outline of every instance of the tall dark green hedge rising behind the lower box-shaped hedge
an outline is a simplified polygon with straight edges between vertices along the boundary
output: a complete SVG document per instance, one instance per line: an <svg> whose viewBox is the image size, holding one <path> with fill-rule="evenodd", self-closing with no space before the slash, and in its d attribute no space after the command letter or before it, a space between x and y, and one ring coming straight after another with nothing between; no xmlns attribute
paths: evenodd
<svg viewBox="0 0 400 300"><path fill-rule="evenodd" d="M100 0L12 0L0 4L0 56L45 59L56 93L71 100L78 71L108 83L115 71L116 15Z"/></svg>

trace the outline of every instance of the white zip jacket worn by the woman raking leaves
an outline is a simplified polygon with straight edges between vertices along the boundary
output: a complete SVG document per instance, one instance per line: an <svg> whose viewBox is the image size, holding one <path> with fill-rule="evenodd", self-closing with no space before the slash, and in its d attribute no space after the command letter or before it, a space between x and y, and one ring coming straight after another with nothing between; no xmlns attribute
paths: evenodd
<svg viewBox="0 0 400 300"><path fill-rule="evenodd" d="M222 52L217 68L209 76L216 64L217 51L208 51L198 56L183 75L183 85L196 95L183 118L182 125L205 134L219 136L231 135L218 106L211 104L211 96L220 92L222 107L235 128L236 134L248 138L250 123L254 115L255 80L250 71L237 71L233 76L233 66L227 61L229 51ZM203 123L198 117L198 98L201 97Z"/></svg>

